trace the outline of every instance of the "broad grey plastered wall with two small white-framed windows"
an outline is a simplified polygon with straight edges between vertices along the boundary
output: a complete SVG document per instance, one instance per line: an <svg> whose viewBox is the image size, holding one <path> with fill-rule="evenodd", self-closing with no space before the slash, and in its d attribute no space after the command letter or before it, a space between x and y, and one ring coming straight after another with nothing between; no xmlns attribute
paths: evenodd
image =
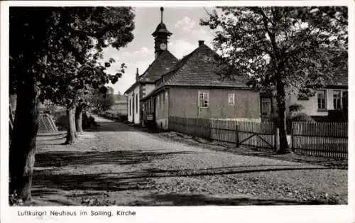
<svg viewBox="0 0 355 223"><path fill-rule="evenodd" d="M199 108L199 91L209 93L209 107ZM234 94L234 105L228 104ZM234 119L260 121L258 92L247 89L169 89L169 116L201 119Z"/></svg>

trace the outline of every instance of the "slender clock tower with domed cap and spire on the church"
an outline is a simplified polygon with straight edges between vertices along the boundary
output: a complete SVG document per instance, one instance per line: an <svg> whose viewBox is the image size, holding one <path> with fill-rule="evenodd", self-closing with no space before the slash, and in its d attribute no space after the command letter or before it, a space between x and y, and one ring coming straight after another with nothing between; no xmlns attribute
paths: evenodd
<svg viewBox="0 0 355 223"><path fill-rule="evenodd" d="M168 31L165 24L163 23L163 11L164 8L160 7L161 21L156 27L154 33L152 34L155 40L155 59L158 58L158 56L163 53L164 50L168 49L168 38L173 34Z"/></svg>

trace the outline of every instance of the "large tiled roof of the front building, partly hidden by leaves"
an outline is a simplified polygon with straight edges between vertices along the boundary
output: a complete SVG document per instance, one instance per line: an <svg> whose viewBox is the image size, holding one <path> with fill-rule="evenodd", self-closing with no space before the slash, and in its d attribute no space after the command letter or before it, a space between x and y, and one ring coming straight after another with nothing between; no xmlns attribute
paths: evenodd
<svg viewBox="0 0 355 223"><path fill-rule="evenodd" d="M163 85L246 88L244 77L223 80L218 75L219 66L214 60L216 55L217 53L207 45L200 45L182 58L170 73L164 75Z"/></svg>

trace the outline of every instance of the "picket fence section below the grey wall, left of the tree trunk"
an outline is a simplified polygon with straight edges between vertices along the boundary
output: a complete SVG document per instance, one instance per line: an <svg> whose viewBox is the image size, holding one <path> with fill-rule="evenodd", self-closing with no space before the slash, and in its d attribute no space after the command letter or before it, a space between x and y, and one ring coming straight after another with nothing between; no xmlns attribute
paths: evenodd
<svg viewBox="0 0 355 223"><path fill-rule="evenodd" d="M238 146L274 148L271 122L169 117L168 128L190 136Z"/></svg>

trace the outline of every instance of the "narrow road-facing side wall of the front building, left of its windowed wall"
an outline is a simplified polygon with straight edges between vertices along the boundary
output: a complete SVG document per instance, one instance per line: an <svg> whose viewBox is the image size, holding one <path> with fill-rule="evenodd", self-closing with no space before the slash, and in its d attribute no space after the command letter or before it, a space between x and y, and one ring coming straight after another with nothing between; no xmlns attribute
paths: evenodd
<svg viewBox="0 0 355 223"><path fill-rule="evenodd" d="M168 91L160 92L155 96L155 122L161 129L168 129L168 110L169 94Z"/></svg>

